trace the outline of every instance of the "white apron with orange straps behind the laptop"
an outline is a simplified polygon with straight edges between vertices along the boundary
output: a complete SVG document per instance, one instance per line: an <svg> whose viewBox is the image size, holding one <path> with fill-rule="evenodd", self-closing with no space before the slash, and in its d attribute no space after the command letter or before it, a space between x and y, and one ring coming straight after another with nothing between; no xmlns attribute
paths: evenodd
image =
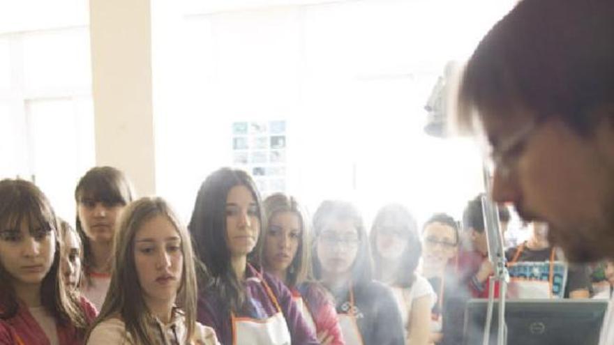
<svg viewBox="0 0 614 345"><path fill-rule="evenodd" d="M521 244L514 258L507 264L510 275L508 286L509 298L563 298L567 280L567 265L555 261L555 250L550 261L518 262L525 243ZM547 279L542 272L548 272Z"/></svg>

